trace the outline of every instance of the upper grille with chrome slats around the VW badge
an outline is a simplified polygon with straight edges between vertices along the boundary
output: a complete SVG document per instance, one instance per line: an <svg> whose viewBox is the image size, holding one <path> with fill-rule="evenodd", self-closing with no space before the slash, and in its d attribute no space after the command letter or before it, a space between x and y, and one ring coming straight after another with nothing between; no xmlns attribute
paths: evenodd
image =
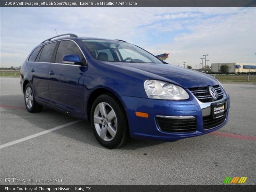
<svg viewBox="0 0 256 192"><path fill-rule="evenodd" d="M221 91L220 85L212 86L218 94L217 100L221 99L223 97L223 92ZM210 92L208 90L208 87L196 87L196 88L189 88L189 91L195 95L195 97L205 103L205 102L211 102L215 101L213 97L210 95Z"/></svg>

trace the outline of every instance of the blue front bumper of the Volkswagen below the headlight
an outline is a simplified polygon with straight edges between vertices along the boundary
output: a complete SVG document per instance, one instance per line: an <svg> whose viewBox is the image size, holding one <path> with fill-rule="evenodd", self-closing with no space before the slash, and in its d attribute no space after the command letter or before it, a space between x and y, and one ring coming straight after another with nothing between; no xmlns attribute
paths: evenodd
<svg viewBox="0 0 256 192"><path fill-rule="evenodd" d="M197 111L175 111L169 105L177 104L178 102L182 106L187 103L187 101L168 101L168 100L149 100L144 98L134 98L134 97L122 97L124 103L126 104L127 116L130 125L130 135L132 138L137 139L148 139L148 140L162 140L162 141L172 141L184 139L187 137L194 137L202 135L208 132L215 131L227 123L226 121L213 129L204 130L203 128L203 117L200 106L196 103L196 100L190 100L190 103L194 103L199 109ZM135 111L147 112L149 118L141 118L135 115ZM228 110L229 111L229 110ZM155 120L156 115L163 116L195 116L197 121L196 132L191 133L168 133L161 131Z"/></svg>

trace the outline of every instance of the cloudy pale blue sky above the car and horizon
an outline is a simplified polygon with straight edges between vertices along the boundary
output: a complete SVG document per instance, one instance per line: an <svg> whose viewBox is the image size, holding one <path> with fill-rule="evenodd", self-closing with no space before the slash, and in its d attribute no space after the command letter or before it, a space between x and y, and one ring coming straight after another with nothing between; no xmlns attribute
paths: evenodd
<svg viewBox="0 0 256 192"><path fill-rule="evenodd" d="M0 64L20 66L43 40L58 34L122 39L167 62L256 63L256 8L0 8Z"/></svg>

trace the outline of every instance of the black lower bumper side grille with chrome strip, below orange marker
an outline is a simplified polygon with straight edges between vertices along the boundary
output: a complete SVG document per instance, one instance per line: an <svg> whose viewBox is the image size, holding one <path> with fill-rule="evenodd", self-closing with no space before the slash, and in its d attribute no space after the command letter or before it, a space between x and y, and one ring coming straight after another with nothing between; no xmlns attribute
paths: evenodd
<svg viewBox="0 0 256 192"><path fill-rule="evenodd" d="M192 119L169 119L156 117L156 123L165 132L195 132L196 118Z"/></svg>

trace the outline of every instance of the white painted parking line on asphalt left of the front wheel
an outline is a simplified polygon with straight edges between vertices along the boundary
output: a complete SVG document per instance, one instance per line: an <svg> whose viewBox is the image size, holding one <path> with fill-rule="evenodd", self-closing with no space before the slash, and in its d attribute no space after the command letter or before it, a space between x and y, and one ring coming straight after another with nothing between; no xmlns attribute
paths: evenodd
<svg viewBox="0 0 256 192"><path fill-rule="evenodd" d="M40 135L44 135L44 134L49 133L49 132L53 132L53 131L55 131L55 130L57 130L57 129L61 129L61 128L63 128L63 127L67 127L67 126L69 126L69 125L75 124L75 123L80 122L80 121L81 121L81 120L72 121L72 122L70 122L70 123L66 123L66 124L60 125L60 126L58 126L58 127L54 127L54 128L52 128L52 129L48 129L48 130L45 130L45 131L36 133L36 134L34 134L34 135L30 135L30 136L27 136L27 137L24 137L24 138L21 138L21 139L18 139L18 140L9 142L9 143L5 143L5 144L3 144L3 145L0 145L0 149L5 148L5 147L9 147L9 146L11 146L11 145L15 145L15 144L17 144L17 143L20 143L20 142L23 142L23 141L26 141L26 140L29 140L29 139L32 139L32 138L35 138L35 137L38 137L38 136L40 136Z"/></svg>

